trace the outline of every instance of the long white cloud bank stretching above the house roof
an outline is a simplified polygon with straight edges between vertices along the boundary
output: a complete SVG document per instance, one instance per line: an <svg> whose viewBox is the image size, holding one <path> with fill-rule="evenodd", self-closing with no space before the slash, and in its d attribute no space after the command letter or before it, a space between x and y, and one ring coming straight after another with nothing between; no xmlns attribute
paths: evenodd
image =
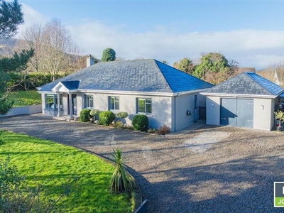
<svg viewBox="0 0 284 213"><path fill-rule="evenodd" d="M173 64L180 58L198 58L200 53L221 52L241 66L261 68L284 58L284 31L244 29L220 32L171 33L159 31L133 33L126 26L107 26L89 21L67 26L77 44L100 58L105 48L114 48L125 59L156 58Z"/></svg>

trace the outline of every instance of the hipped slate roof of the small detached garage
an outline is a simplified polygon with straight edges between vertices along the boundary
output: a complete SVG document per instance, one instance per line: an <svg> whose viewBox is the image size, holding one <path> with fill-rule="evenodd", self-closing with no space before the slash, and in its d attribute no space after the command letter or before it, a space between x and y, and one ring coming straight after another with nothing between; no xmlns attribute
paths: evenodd
<svg viewBox="0 0 284 213"><path fill-rule="evenodd" d="M206 94L251 94L278 96L283 88L254 72L242 72L217 86L207 89Z"/></svg>

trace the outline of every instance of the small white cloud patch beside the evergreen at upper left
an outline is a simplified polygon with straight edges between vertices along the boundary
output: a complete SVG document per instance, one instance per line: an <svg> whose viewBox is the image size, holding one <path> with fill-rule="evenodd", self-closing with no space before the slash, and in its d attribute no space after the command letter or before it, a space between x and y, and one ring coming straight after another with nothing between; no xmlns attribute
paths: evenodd
<svg viewBox="0 0 284 213"><path fill-rule="evenodd" d="M38 11L35 11L31 6L28 6L27 4L22 5L22 11L23 11L23 18L24 23L18 27L18 34L16 35L16 38L21 37L21 33L27 28L32 26L34 23L42 23L44 24L49 20L48 17L43 16L42 14L38 13Z"/></svg>

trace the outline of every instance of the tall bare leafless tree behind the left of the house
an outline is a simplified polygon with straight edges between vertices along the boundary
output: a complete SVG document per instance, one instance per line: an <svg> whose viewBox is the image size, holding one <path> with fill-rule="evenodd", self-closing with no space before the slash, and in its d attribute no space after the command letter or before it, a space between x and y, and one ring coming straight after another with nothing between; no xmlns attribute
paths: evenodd
<svg viewBox="0 0 284 213"><path fill-rule="evenodd" d="M28 45L35 49L31 59L33 71L47 72L55 80L60 72L72 72L80 67L80 48L58 19L49 21L45 26L34 24L26 28L22 35L26 42L20 48Z"/></svg>

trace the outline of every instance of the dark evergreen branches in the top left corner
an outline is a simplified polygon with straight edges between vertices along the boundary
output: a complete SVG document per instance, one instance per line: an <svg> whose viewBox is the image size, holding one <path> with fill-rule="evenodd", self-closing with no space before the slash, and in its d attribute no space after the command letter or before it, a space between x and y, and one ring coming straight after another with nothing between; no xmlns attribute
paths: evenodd
<svg viewBox="0 0 284 213"><path fill-rule="evenodd" d="M18 0L0 0L0 37L11 38L17 33L18 25L23 23L23 13Z"/></svg>

